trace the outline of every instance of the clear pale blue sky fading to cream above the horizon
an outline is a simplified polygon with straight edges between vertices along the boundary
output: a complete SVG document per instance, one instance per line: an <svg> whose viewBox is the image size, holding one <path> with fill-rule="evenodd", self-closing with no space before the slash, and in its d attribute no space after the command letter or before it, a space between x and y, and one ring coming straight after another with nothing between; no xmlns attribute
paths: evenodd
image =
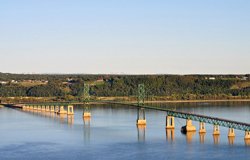
<svg viewBox="0 0 250 160"><path fill-rule="evenodd" d="M249 0L0 0L0 72L250 73Z"/></svg>

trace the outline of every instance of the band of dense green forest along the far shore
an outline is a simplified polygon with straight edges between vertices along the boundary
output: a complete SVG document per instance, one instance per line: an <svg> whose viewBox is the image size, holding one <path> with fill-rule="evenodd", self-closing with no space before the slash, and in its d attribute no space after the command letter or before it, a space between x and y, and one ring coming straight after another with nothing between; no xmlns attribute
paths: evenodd
<svg viewBox="0 0 250 160"><path fill-rule="evenodd" d="M0 97L77 99L84 84L92 97L135 97L143 83L148 100L250 98L250 75L50 75L0 73Z"/></svg>

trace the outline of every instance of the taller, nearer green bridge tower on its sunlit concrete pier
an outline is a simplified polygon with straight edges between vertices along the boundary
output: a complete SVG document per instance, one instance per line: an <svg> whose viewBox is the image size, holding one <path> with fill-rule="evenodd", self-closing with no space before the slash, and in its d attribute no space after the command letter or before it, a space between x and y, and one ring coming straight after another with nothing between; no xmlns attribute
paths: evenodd
<svg viewBox="0 0 250 160"><path fill-rule="evenodd" d="M137 125L146 125L145 109L144 106L145 99L145 86L144 84L138 85L138 110L137 110Z"/></svg>

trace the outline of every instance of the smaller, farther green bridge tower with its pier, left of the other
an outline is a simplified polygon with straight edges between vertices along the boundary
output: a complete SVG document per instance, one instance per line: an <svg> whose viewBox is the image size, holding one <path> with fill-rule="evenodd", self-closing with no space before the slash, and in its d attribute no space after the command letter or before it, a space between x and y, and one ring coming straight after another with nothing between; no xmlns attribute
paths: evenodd
<svg viewBox="0 0 250 160"><path fill-rule="evenodd" d="M84 98L83 117L91 117L90 107L89 107L89 101L90 101L89 84L84 84L83 98Z"/></svg>

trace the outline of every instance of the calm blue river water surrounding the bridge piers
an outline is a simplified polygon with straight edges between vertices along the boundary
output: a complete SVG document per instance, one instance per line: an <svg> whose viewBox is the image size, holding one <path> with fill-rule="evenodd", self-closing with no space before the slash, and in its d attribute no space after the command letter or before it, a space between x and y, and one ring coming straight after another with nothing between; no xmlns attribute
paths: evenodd
<svg viewBox="0 0 250 160"><path fill-rule="evenodd" d="M250 103L154 104L208 116L250 123ZM137 128L137 110L128 106L92 106L91 119L0 108L0 159L250 159L244 131L229 142L228 128L212 136L206 124L200 135L180 132L185 120L175 119L174 137L165 130L166 113L146 110L146 128ZM198 129L198 123L193 122Z"/></svg>

